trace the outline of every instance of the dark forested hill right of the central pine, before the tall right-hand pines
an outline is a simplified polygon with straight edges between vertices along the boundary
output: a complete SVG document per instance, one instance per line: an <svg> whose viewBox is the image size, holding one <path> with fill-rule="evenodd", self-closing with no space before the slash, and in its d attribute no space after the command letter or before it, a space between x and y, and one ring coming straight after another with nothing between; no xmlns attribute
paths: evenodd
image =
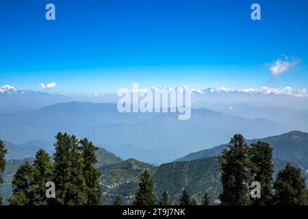
<svg viewBox="0 0 308 219"><path fill-rule="evenodd" d="M179 203L185 188L201 202L205 192L213 198L220 194L218 158L195 159L191 162L162 164L153 172L153 181L158 196L168 191L172 203Z"/></svg>

